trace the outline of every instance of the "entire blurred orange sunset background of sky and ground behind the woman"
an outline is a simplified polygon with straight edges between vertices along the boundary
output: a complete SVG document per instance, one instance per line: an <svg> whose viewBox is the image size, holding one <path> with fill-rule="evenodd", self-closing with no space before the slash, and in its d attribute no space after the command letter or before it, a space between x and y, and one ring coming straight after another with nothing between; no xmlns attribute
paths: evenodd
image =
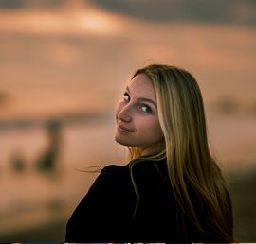
<svg viewBox="0 0 256 244"><path fill-rule="evenodd" d="M82 171L126 162L115 109L153 62L197 79L235 241L253 242L255 26L255 0L0 0L0 242L64 242Z"/></svg>

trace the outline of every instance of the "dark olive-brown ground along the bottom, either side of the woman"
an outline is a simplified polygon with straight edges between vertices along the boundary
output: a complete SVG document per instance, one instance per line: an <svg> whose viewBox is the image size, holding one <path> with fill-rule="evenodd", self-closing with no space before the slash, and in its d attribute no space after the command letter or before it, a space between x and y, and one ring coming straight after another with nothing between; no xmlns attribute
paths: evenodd
<svg viewBox="0 0 256 244"><path fill-rule="evenodd" d="M245 180L247 179L247 180ZM235 241L253 243L256 239L255 184L256 170L232 175L229 180L235 217ZM71 209L70 209L71 210ZM64 242L65 225L68 217L30 227L27 230L13 231L11 234L0 235L1 242L19 240L23 242Z"/></svg>

